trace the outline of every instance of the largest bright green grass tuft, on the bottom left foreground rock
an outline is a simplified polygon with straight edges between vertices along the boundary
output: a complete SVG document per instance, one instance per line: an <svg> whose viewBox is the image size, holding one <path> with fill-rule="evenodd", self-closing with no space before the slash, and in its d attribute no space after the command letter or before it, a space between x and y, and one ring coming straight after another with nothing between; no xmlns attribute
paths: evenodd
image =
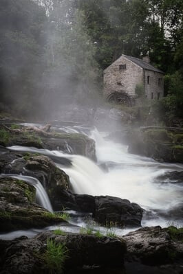
<svg viewBox="0 0 183 274"><path fill-rule="evenodd" d="M50 274L63 273L64 264L67 260L68 249L65 244L56 244L54 240L47 239L47 250L43 255L45 266Z"/></svg>

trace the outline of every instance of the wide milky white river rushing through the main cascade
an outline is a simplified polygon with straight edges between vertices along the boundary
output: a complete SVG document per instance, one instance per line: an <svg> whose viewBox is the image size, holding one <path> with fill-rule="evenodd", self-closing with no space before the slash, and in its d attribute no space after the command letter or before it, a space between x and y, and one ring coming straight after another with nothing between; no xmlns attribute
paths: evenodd
<svg viewBox="0 0 183 274"><path fill-rule="evenodd" d="M27 124L26 124L27 125ZM144 209L142 226L160 225L167 227L183 225L182 216L175 214L182 206L183 183L158 179L171 171L181 171L183 165L159 163L153 159L129 154L125 144L111 141L108 133L85 126L64 126L59 130L67 133L83 133L96 142L97 163L80 155L61 151L39 150L13 146L11 150L40 152L54 157L65 157L72 166L58 165L70 178L74 192L78 194L109 195L138 203ZM100 166L105 168L101 169ZM83 220L77 225L85 225ZM52 228L52 227L50 227ZM119 232L119 234L124 233Z"/></svg>

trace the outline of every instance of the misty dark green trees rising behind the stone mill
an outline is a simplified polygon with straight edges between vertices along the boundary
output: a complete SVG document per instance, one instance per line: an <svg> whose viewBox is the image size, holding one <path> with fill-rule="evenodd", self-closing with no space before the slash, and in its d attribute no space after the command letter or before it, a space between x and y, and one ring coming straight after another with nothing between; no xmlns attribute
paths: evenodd
<svg viewBox="0 0 183 274"><path fill-rule="evenodd" d="M166 116L182 116L182 0L1 0L1 109L23 115L92 102L121 54L162 69Z"/></svg>

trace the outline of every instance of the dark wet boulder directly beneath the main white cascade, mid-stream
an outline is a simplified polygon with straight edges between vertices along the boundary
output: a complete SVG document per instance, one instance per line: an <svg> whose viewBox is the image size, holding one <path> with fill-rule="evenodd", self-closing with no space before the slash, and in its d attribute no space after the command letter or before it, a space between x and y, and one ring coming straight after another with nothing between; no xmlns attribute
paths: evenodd
<svg viewBox="0 0 183 274"><path fill-rule="evenodd" d="M58 207L92 213L92 217L100 225L141 226L143 209L126 199L112 196L80 195L63 191L57 192L56 195L59 195L54 198Z"/></svg>

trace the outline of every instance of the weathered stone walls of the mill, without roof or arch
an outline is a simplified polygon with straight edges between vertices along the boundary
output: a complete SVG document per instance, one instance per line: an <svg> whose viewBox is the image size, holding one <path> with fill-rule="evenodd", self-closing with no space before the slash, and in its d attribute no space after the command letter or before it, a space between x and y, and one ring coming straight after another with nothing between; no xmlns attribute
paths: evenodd
<svg viewBox="0 0 183 274"><path fill-rule="evenodd" d="M120 66L123 67L120 69ZM145 95L148 99L158 99L163 96L162 73L144 70L125 56L121 56L105 69L103 82L106 98L115 91L135 96L138 84L144 85Z"/></svg>

